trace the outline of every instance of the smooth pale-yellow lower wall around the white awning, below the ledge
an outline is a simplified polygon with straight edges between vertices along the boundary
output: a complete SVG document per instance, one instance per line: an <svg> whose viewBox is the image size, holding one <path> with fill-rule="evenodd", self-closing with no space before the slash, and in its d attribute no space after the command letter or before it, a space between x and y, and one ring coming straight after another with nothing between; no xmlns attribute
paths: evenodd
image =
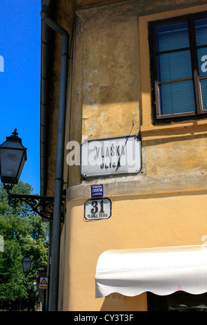
<svg viewBox="0 0 207 325"><path fill-rule="evenodd" d="M68 203L63 310L147 310L146 294L95 299L99 255L110 249L202 244L206 191L110 197L108 220L86 221L86 199Z"/></svg>

